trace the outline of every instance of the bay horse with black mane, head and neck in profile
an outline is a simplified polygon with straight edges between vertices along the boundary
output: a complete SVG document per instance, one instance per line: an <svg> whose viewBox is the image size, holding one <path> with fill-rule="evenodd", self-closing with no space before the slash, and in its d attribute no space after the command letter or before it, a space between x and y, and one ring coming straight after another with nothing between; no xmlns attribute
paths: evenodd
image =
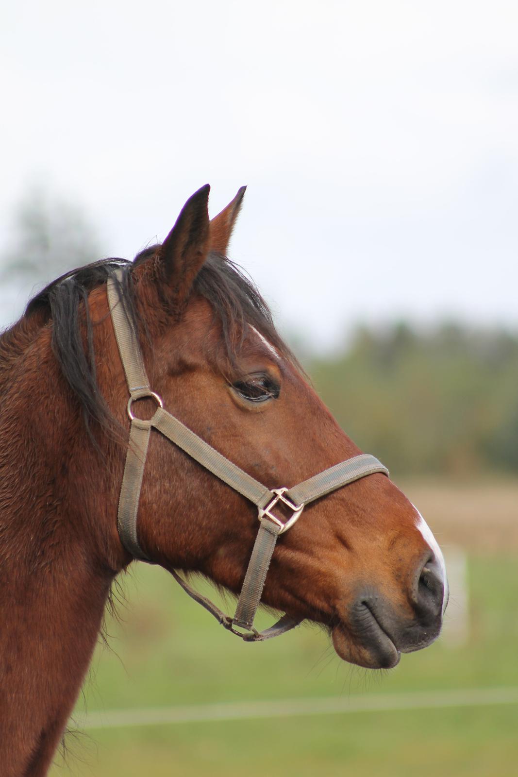
<svg viewBox="0 0 518 777"><path fill-rule="evenodd" d="M203 186L162 245L133 262L104 260L55 280L0 338L4 777L47 773L111 584L134 556L176 576L201 573L238 594L256 552L256 507L246 493L157 431L140 457L128 446L127 407L137 415L132 427L151 430L146 423L163 405L239 477L267 484L274 496L259 504L260 524L277 527L276 544L259 598L291 625L324 625L339 657L370 668L395 666L400 653L440 632L443 556L379 462L372 472L362 465L353 482L342 473L338 485L314 489L281 533L304 507L290 503L297 489L284 486L373 457L339 428L256 287L227 258L244 190L210 221ZM130 404L110 284L153 389L131 393ZM132 455L146 463L130 552L117 514ZM251 634L260 638L252 625Z"/></svg>

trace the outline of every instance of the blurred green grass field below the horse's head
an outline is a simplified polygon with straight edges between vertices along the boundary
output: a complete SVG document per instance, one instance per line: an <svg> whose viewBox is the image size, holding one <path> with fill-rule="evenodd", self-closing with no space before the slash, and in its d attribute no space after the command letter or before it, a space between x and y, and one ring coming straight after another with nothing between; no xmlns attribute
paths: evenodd
<svg viewBox="0 0 518 777"><path fill-rule="evenodd" d="M518 504L518 487L515 495ZM479 503L473 500L474 515ZM509 515L515 518L516 510ZM485 526L480 516L478 523ZM518 550L477 548L476 524L475 516L466 528L468 640L457 647L439 640L403 656L390 672L344 664L329 637L310 627L269 643L242 643L163 570L135 564L124 581L122 620L109 623L110 648L99 645L76 717L85 710L518 686ZM452 533L458 539L458 527ZM495 777L516 773L518 704L96 728L68 735L67 744L52 777Z"/></svg>

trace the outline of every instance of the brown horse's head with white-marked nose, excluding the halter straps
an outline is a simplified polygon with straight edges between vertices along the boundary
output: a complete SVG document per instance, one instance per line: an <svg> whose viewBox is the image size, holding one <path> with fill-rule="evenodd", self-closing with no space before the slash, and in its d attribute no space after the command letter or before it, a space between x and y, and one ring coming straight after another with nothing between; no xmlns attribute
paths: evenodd
<svg viewBox="0 0 518 777"><path fill-rule="evenodd" d="M123 293L165 408L269 489L290 487L361 451L318 398L255 287L226 258L244 188L212 221L208 193L208 186L196 192L162 246L125 268ZM127 427L127 382L104 288L90 294L90 312L103 350L99 388ZM133 409L145 417L154 407L144 398ZM111 444L109 458L116 476L106 514L121 568L131 556L113 530L120 445ZM252 503L151 434L137 520L148 559L238 594L257 525ZM418 510L377 472L305 507L276 544L262 601L325 625L342 659L393 667L400 653L440 632L443 556Z"/></svg>

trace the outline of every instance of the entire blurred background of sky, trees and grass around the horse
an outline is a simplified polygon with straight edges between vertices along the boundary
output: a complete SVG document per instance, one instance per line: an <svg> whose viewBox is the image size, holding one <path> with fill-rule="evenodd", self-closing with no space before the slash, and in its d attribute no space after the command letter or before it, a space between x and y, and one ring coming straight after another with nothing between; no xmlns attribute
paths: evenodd
<svg viewBox="0 0 518 777"><path fill-rule="evenodd" d="M134 564L53 777L514 773L517 27L504 0L2 9L0 325L248 184L231 258L452 591L437 643L366 672L318 629L240 643Z"/></svg>

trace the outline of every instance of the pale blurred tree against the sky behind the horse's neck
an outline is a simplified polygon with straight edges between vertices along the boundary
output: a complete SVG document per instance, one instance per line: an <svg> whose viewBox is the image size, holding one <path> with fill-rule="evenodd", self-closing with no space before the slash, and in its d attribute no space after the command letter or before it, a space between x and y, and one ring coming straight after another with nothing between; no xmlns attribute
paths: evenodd
<svg viewBox="0 0 518 777"><path fill-rule="evenodd" d="M96 230L81 208L33 187L16 207L10 246L0 257L0 278L40 284L99 256Z"/></svg>

